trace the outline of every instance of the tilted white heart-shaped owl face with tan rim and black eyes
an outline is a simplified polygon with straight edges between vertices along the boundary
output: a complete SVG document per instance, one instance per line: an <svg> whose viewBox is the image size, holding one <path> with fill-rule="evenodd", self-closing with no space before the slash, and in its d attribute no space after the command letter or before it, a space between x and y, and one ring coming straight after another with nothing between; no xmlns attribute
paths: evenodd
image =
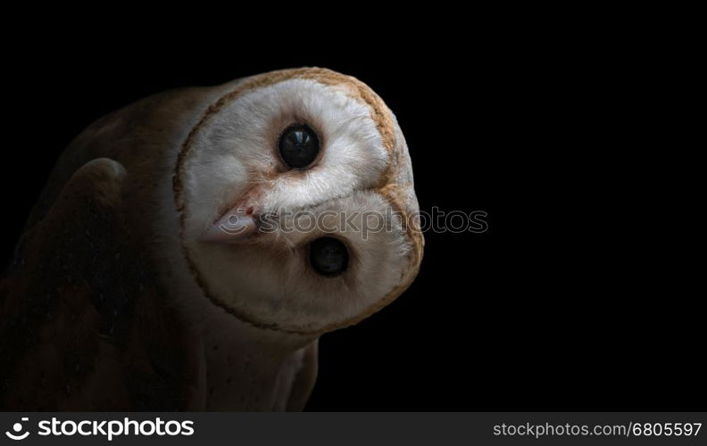
<svg viewBox="0 0 707 446"><path fill-rule="evenodd" d="M419 268L403 135L378 95L333 71L236 84L181 147L174 191L197 284L255 326L351 325Z"/></svg>

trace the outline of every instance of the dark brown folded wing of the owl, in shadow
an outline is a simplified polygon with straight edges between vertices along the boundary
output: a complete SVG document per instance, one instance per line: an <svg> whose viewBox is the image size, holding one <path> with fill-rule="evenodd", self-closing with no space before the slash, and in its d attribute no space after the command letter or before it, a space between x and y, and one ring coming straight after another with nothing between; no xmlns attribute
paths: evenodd
<svg viewBox="0 0 707 446"><path fill-rule="evenodd" d="M21 239L0 283L0 409L202 409L199 346L122 219L121 164L96 159Z"/></svg>

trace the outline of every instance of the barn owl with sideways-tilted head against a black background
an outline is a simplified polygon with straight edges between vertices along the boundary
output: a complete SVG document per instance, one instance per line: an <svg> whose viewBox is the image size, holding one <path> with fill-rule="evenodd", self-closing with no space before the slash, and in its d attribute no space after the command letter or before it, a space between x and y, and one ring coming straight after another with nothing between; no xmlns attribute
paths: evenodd
<svg viewBox="0 0 707 446"><path fill-rule="evenodd" d="M304 211L326 225L283 229ZM62 154L4 273L0 408L303 409L320 335L416 276L417 211L395 116L335 71L115 111Z"/></svg>

